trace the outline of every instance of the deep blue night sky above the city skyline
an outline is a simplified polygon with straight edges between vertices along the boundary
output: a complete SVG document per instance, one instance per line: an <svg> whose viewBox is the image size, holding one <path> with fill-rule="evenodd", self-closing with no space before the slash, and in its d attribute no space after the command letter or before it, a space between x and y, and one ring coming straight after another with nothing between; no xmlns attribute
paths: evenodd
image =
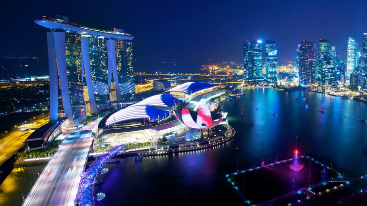
<svg viewBox="0 0 367 206"><path fill-rule="evenodd" d="M348 37L361 48L366 10L366 0L7 0L0 3L0 57L47 59L49 30L33 20L60 14L132 34L135 71L192 71L206 59L242 62L243 41L255 39L275 40L278 59L291 61L302 40L328 39L346 59ZM162 61L177 62L178 69Z"/></svg>

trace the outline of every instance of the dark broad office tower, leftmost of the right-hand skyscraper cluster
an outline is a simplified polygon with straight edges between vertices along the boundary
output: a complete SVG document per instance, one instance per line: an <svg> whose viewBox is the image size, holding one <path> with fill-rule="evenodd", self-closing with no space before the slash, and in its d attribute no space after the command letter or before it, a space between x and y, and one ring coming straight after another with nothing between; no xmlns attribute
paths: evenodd
<svg viewBox="0 0 367 206"><path fill-rule="evenodd" d="M316 66L316 44L313 42L302 41L299 46L299 78L300 85L306 86L315 83Z"/></svg>

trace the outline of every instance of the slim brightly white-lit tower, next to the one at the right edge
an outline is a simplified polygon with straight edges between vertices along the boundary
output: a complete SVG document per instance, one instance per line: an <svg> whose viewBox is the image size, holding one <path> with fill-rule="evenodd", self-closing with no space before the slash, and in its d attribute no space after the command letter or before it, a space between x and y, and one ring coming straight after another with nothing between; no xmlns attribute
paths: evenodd
<svg viewBox="0 0 367 206"><path fill-rule="evenodd" d="M357 66L357 42L351 37L348 38L347 47L347 70L345 74L345 85L349 86L351 84L351 74L354 68Z"/></svg>

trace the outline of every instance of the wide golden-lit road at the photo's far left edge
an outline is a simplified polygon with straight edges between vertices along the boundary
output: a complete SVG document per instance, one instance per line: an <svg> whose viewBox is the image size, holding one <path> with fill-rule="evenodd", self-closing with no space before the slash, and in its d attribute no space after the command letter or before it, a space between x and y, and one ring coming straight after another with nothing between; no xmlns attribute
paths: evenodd
<svg viewBox="0 0 367 206"><path fill-rule="evenodd" d="M49 122L49 117L37 121L37 127ZM35 122L36 123L36 122ZM10 133L7 137L0 141L0 165L10 158L23 145L27 137L32 134L34 130L16 131Z"/></svg>

